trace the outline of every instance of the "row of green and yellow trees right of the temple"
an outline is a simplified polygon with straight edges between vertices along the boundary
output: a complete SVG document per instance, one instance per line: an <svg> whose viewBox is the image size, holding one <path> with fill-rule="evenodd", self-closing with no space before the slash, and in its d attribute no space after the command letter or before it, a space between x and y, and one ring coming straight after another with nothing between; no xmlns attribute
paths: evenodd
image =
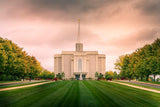
<svg viewBox="0 0 160 107"><path fill-rule="evenodd" d="M160 39L147 44L131 54L120 56L115 63L120 77L148 81L149 75L160 75Z"/></svg>

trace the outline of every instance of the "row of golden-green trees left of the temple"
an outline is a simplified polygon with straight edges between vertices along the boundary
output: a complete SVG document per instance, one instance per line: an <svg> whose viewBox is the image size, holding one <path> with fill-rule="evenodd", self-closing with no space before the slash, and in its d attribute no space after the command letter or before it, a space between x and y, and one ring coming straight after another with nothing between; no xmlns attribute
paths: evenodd
<svg viewBox="0 0 160 107"><path fill-rule="evenodd" d="M34 56L28 55L11 40L0 38L0 80L35 77L54 78L54 73L44 70Z"/></svg>

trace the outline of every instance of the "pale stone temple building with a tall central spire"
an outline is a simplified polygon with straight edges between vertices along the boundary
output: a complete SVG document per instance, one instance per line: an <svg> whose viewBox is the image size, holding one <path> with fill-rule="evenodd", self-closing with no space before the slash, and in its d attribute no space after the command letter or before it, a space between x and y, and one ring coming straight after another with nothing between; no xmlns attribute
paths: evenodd
<svg viewBox="0 0 160 107"><path fill-rule="evenodd" d="M80 41L80 21L78 24L78 36L75 51L62 51L54 55L54 72L65 73L65 78L84 80L95 78L95 73L105 74L106 57L98 54L98 51L83 51L83 43Z"/></svg>

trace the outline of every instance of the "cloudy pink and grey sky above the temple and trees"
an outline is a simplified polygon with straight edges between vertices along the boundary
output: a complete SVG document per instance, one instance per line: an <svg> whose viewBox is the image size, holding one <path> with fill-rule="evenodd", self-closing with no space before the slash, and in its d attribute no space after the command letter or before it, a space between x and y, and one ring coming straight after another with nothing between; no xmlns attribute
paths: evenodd
<svg viewBox="0 0 160 107"><path fill-rule="evenodd" d="M160 0L0 0L0 36L54 71L54 54L74 51L78 19L84 50L118 56L160 37Z"/></svg>

